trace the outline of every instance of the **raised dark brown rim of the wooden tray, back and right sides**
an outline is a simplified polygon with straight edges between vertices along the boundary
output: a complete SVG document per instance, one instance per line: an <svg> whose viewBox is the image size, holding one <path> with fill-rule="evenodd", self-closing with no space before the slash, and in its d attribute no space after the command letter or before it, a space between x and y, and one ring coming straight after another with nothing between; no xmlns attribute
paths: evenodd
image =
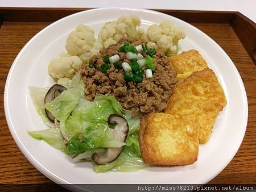
<svg viewBox="0 0 256 192"><path fill-rule="evenodd" d="M93 8L32 8L0 7L1 23L9 22L54 22L67 15ZM256 24L237 11L194 11L154 9L175 16L188 23L229 23L243 47L256 65Z"/></svg>

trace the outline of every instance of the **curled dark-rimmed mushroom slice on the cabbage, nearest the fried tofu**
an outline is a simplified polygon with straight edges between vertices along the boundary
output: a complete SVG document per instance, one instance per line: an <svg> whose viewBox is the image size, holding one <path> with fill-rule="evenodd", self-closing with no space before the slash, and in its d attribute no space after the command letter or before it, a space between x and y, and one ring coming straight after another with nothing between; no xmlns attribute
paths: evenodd
<svg viewBox="0 0 256 192"><path fill-rule="evenodd" d="M109 116L108 122L110 124L117 123L113 130L114 137L118 141L125 142L129 131L129 126L126 119L123 118L121 115L112 114ZM121 154L122 150L123 146L110 147L106 149L105 154L102 156L99 156L97 153L93 153L92 160L97 164L104 165L117 159L117 157Z"/></svg>

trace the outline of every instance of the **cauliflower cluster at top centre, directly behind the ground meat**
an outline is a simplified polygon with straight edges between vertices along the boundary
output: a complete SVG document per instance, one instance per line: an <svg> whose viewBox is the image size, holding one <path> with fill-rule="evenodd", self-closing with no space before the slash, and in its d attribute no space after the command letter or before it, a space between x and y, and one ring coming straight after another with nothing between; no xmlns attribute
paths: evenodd
<svg viewBox="0 0 256 192"><path fill-rule="evenodd" d="M131 37L133 41L144 39L144 30L137 27L141 25L141 19L135 15L121 16L117 20L105 23L98 35L99 42L108 47L117 43L122 37Z"/></svg>

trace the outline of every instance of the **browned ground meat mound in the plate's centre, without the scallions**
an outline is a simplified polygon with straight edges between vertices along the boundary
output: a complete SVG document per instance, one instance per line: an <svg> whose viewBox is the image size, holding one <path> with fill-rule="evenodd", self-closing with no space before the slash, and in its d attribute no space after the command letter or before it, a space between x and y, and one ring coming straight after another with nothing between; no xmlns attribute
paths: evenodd
<svg viewBox="0 0 256 192"><path fill-rule="evenodd" d="M80 69L86 86L86 99L92 101L98 93L113 95L123 108L133 111L133 115L137 115L139 111L143 114L163 111L172 95L172 86L177 80L176 71L170 68L168 57L162 50L157 49L156 55L152 57L156 65L153 78L146 79L144 75L142 82L125 80L123 76L125 71L122 68L115 69L113 64L110 64L111 68L106 74L101 72L100 66L104 64L103 56L118 54L119 61L130 64L130 61L125 59L126 53L119 52L119 47L126 41L131 43L130 39L123 38L117 44L102 49L99 55L92 56L90 61L94 62L94 68L89 68L88 64L85 64ZM134 45L141 43L143 42L137 41ZM141 53L146 56L145 52Z"/></svg>

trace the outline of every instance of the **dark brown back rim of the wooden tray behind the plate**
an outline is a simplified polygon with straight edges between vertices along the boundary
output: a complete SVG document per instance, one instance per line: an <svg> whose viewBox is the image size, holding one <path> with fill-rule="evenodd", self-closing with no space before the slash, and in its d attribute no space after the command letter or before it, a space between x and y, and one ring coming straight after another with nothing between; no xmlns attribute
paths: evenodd
<svg viewBox="0 0 256 192"><path fill-rule="evenodd" d="M63 18L63 16L90 9L93 8L0 7L0 18L6 21L53 22ZM236 11L152 10L176 16L190 23L230 23L237 14ZM192 14L193 16L184 14ZM36 15L37 17L31 17L32 15Z"/></svg>

